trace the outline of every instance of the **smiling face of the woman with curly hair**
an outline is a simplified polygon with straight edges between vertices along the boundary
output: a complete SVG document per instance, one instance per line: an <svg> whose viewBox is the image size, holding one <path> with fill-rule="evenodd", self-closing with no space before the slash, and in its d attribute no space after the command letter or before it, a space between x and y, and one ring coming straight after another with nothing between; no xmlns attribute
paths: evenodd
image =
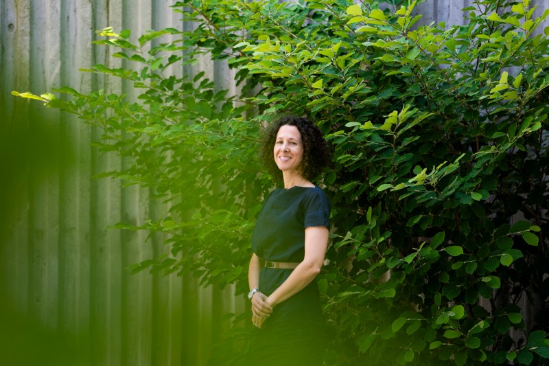
<svg viewBox="0 0 549 366"><path fill-rule="evenodd" d="M274 162L280 170L301 170L303 141L296 126L281 126L274 141Z"/></svg>

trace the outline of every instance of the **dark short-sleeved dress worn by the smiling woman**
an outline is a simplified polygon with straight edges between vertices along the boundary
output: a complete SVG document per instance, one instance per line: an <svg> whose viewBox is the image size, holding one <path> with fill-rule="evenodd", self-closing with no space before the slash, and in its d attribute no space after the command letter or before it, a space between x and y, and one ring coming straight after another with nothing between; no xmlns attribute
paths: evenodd
<svg viewBox="0 0 549 366"><path fill-rule="evenodd" d="M252 250L272 262L301 262L305 228L329 227L329 203L319 187L271 192L259 213ZM261 268L259 289L270 295L293 269ZM274 308L257 330L251 351L260 365L321 365L326 350L326 319L316 281ZM259 360L257 359L259 357Z"/></svg>

